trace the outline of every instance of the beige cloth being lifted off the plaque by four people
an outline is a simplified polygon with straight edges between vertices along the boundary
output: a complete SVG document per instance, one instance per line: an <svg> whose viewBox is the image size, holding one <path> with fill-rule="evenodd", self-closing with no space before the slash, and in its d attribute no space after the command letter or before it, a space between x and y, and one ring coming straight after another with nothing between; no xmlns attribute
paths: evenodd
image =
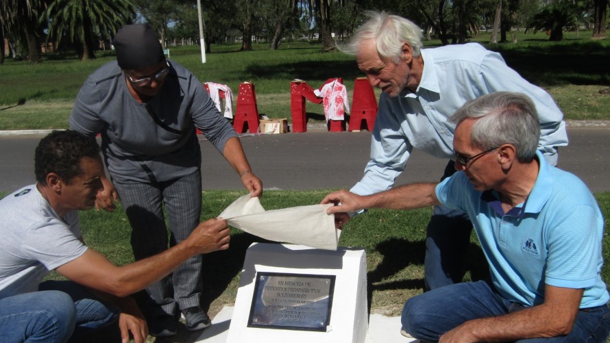
<svg viewBox="0 0 610 343"><path fill-rule="evenodd" d="M318 204L265 211L258 198L246 194L229 205L219 218L266 240L337 250L341 230L334 228L334 215L326 214L330 206Z"/></svg>

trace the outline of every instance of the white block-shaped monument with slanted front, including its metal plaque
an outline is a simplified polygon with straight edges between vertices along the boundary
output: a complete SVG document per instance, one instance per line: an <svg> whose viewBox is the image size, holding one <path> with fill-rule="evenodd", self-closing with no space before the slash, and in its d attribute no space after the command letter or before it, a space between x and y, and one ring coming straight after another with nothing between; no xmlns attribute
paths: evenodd
<svg viewBox="0 0 610 343"><path fill-rule="evenodd" d="M364 343L362 249L254 243L246 253L228 343Z"/></svg>

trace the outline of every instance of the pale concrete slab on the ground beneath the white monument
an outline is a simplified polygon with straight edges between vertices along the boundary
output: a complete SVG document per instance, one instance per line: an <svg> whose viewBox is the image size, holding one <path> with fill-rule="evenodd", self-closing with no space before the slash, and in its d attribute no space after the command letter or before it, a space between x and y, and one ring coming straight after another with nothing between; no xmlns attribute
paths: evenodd
<svg viewBox="0 0 610 343"><path fill-rule="evenodd" d="M195 342L202 343L225 343L229 334L233 307L223 307L212 320L212 326L208 327ZM244 342L256 342L244 341ZM284 342L291 342L286 340ZM400 334L400 317L385 317L380 314L371 314L369 317L369 330L367 331L366 343L417 343L415 338L406 338ZM269 342L271 343L271 342ZM343 343L337 341L337 343Z"/></svg>

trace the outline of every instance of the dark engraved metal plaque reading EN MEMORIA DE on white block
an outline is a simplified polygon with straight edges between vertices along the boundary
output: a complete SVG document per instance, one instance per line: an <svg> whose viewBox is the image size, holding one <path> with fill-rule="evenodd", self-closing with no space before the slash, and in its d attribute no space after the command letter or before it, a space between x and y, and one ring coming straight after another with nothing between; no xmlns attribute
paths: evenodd
<svg viewBox="0 0 610 343"><path fill-rule="evenodd" d="M326 331L335 275L257 272L248 327Z"/></svg>

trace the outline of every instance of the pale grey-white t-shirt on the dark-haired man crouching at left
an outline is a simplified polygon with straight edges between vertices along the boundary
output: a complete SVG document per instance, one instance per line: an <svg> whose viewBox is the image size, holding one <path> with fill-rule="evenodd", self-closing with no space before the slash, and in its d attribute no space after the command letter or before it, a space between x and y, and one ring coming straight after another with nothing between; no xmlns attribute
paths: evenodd
<svg viewBox="0 0 610 343"><path fill-rule="evenodd" d="M0 201L0 298L35 292L49 270L85 253L76 211L60 218L27 186Z"/></svg>

